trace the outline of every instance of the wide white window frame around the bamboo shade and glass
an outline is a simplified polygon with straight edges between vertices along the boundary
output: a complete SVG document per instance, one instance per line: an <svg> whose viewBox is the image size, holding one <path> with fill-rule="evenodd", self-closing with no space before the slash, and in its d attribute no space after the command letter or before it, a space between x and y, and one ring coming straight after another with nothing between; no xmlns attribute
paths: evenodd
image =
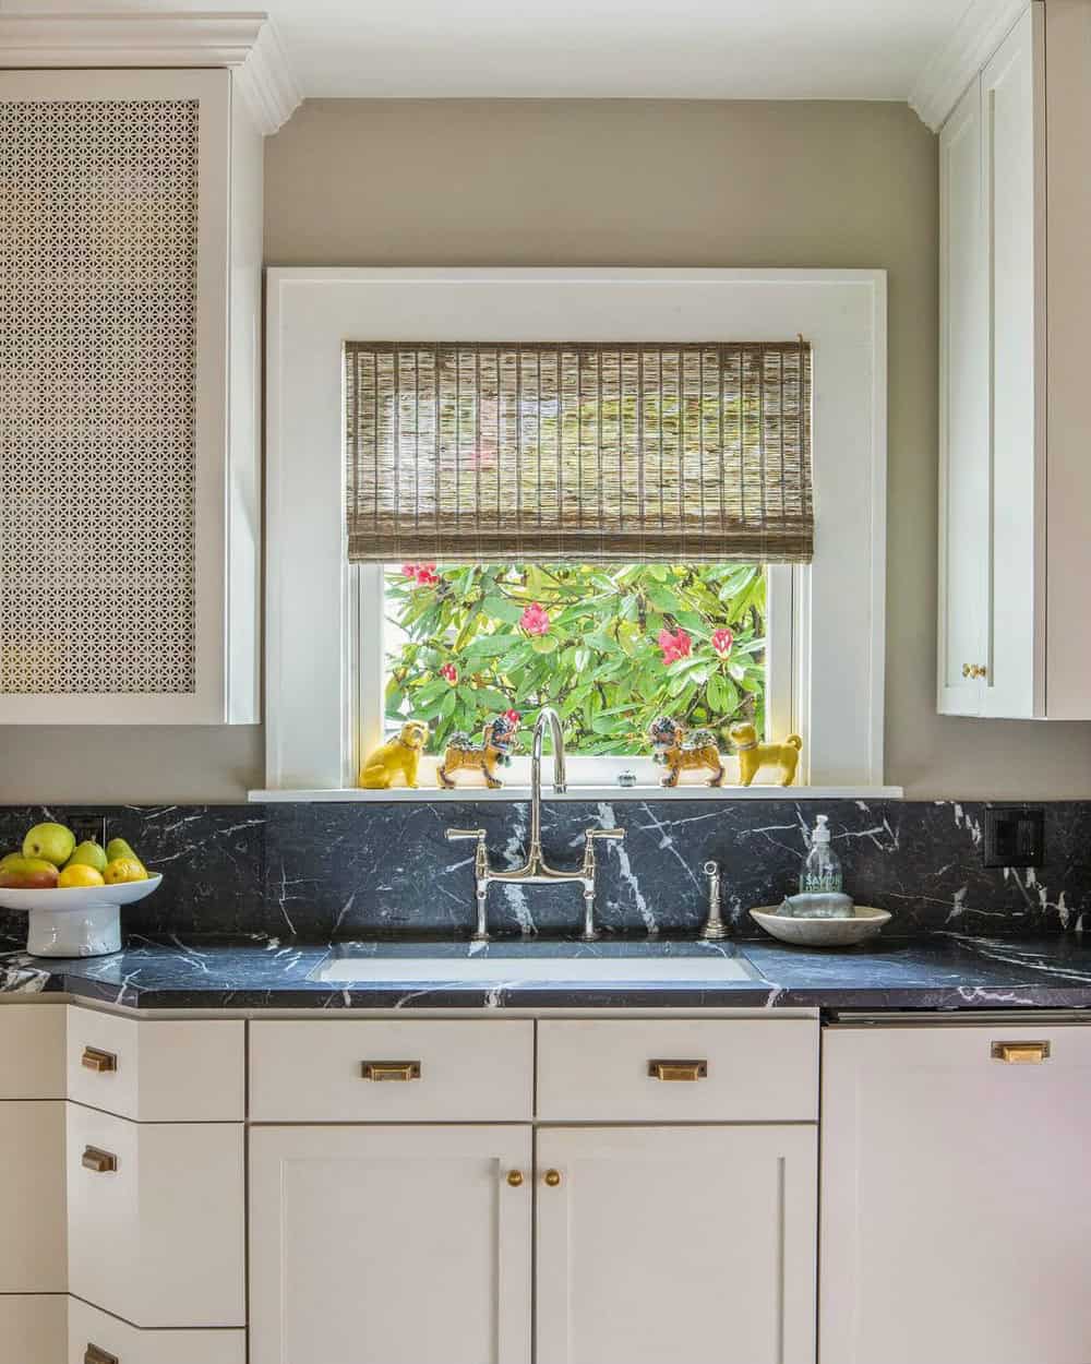
<svg viewBox="0 0 1091 1364"><path fill-rule="evenodd" d="M267 271L266 790L251 797L449 797L355 788L360 749L382 732L382 649L367 648L379 638L382 570L353 569L345 554L345 341L796 333L814 348L816 554L807 569L771 573L769 730L806 738L796 794L900 795L882 786L885 271L304 267ZM636 790L595 784L626 765ZM570 788L646 799L653 771L649 760L573 760ZM524 782L515 765L507 790Z"/></svg>

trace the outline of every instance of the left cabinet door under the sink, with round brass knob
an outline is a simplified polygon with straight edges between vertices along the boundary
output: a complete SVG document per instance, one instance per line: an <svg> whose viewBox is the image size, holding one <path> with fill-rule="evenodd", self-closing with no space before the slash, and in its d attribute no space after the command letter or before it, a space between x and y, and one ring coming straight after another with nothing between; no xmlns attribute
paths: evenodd
<svg viewBox="0 0 1091 1364"><path fill-rule="evenodd" d="M529 1127L250 1140L251 1364L529 1364Z"/></svg>

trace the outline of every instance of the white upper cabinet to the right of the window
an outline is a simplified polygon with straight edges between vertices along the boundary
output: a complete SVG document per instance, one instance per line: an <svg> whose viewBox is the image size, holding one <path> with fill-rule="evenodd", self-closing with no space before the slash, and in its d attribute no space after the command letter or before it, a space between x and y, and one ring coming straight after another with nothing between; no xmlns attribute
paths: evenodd
<svg viewBox="0 0 1091 1364"><path fill-rule="evenodd" d="M1079 359L1090 119L1091 7L1050 0L1024 11L940 134L946 715L1091 717L1091 415Z"/></svg>

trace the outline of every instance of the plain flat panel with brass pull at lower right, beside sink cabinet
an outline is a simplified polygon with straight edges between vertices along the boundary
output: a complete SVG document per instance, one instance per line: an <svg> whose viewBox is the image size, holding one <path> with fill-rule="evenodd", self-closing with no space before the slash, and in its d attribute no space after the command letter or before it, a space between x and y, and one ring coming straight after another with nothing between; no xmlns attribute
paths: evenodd
<svg viewBox="0 0 1091 1364"><path fill-rule="evenodd" d="M1088 1027L828 1030L821 1364L1087 1364L1088 1131Z"/></svg>

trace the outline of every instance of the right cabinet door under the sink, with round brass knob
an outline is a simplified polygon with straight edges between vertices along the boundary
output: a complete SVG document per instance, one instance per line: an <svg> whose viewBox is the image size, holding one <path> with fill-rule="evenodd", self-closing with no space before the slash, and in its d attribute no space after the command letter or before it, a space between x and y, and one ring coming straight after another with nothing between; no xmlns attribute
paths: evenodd
<svg viewBox="0 0 1091 1364"><path fill-rule="evenodd" d="M813 1364L816 1140L539 1131L537 1364Z"/></svg>

